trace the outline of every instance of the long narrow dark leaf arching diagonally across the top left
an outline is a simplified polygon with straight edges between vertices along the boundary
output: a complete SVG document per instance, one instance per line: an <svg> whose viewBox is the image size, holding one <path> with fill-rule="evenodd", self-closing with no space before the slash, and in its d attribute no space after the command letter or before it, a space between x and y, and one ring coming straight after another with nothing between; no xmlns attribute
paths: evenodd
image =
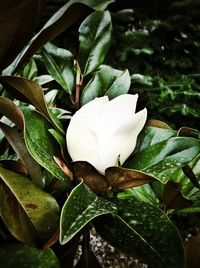
<svg viewBox="0 0 200 268"><path fill-rule="evenodd" d="M4 71L10 75L16 72L24 62L47 42L54 39L78 19L87 15L91 8L104 10L113 0L70 0L61 7L43 26L43 28L29 41L15 61Z"/></svg>

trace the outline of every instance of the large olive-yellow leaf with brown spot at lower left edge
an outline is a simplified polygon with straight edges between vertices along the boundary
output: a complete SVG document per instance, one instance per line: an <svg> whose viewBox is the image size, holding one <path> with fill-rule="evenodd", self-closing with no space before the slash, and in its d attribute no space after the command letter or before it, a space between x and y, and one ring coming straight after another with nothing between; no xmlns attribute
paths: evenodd
<svg viewBox="0 0 200 268"><path fill-rule="evenodd" d="M1 217L9 231L28 244L49 238L59 219L57 201L27 177L0 167Z"/></svg>

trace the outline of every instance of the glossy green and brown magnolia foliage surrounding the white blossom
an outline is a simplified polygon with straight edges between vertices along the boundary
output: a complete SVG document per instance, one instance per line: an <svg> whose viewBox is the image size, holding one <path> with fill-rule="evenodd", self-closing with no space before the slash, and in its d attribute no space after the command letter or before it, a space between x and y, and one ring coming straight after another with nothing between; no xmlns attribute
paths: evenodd
<svg viewBox="0 0 200 268"><path fill-rule="evenodd" d="M112 41L111 14L105 11L111 2L68 1L19 54L11 48L22 41L20 31L7 31L5 40L13 39L2 49L0 76L4 267L73 267L79 244L83 254L77 267L99 267L88 246L91 226L149 267L185 267L171 215L200 212L198 131L175 131L151 120L124 167L109 167L105 176L89 163L71 163L67 153L72 113L95 97L112 99L129 91L129 71L104 64ZM48 43L80 18L78 55ZM16 25L20 29L22 21Z"/></svg>

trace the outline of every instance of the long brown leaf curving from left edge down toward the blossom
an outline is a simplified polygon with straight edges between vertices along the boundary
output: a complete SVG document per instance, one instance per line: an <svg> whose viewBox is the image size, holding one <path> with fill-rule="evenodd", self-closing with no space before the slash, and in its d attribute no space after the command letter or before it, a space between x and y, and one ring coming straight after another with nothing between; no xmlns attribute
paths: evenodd
<svg viewBox="0 0 200 268"><path fill-rule="evenodd" d="M63 132L59 120L48 109L43 89L34 81L14 76L1 76L0 81L5 84L17 98L33 104L56 128ZM16 93L17 90L17 93Z"/></svg>

